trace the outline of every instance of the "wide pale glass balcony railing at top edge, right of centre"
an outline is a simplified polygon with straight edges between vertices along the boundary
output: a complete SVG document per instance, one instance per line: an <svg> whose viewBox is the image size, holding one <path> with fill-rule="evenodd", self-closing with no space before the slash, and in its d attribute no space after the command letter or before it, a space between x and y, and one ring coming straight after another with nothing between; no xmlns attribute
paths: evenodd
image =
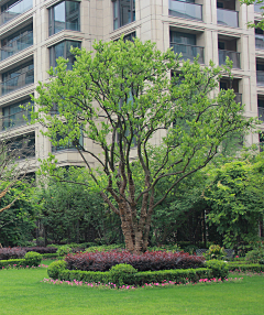
<svg viewBox="0 0 264 315"><path fill-rule="evenodd" d="M190 2L169 0L168 15L202 21L202 6Z"/></svg>

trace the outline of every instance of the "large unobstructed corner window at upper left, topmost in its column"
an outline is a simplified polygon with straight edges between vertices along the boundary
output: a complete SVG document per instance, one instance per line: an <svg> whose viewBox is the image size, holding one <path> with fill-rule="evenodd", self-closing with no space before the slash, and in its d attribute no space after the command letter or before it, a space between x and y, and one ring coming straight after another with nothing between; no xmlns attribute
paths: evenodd
<svg viewBox="0 0 264 315"><path fill-rule="evenodd" d="M48 10L48 35L63 30L80 31L79 2L63 1Z"/></svg>

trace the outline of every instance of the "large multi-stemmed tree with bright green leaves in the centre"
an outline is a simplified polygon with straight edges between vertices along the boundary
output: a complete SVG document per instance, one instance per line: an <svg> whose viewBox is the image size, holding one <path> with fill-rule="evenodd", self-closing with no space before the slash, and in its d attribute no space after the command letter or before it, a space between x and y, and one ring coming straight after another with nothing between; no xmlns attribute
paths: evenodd
<svg viewBox="0 0 264 315"><path fill-rule="evenodd" d="M58 58L50 83L36 88L34 120L54 145L75 144L90 188L120 217L127 249L140 253L154 209L205 167L227 137L249 130L253 120L243 117L232 89L211 98L227 67L201 67L197 59L179 66L180 56L170 50L162 53L138 39L99 42L94 50L73 50L73 70ZM54 108L58 115L51 115ZM80 144L81 134L100 154ZM163 183L168 185L160 196Z"/></svg>

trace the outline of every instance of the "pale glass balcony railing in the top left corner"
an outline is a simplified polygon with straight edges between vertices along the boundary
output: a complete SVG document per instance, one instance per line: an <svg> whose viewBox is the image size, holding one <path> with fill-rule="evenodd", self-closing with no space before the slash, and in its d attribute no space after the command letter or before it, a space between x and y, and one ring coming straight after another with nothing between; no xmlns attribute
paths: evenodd
<svg viewBox="0 0 264 315"><path fill-rule="evenodd" d="M33 7L33 0L21 0L0 14L0 25L8 23Z"/></svg>

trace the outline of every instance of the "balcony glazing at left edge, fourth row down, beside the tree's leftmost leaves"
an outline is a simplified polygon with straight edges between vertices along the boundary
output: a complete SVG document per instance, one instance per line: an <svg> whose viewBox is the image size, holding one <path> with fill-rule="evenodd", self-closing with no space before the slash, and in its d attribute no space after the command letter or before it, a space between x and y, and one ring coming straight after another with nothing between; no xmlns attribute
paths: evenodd
<svg viewBox="0 0 264 315"><path fill-rule="evenodd" d="M21 106L26 107L26 105L29 105L26 109L21 108ZM33 107L30 98L4 107L2 109L2 130L25 124L26 121L23 117L30 121Z"/></svg>

